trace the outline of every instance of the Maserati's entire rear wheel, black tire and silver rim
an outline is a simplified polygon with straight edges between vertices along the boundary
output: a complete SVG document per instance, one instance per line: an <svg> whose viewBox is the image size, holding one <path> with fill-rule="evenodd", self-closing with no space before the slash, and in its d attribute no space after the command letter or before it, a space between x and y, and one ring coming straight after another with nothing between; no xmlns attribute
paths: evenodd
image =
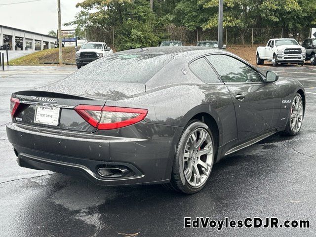
<svg viewBox="0 0 316 237"><path fill-rule="evenodd" d="M186 194L197 193L211 173L214 154L214 139L209 127L199 120L191 120L178 142L171 180L165 186Z"/></svg>

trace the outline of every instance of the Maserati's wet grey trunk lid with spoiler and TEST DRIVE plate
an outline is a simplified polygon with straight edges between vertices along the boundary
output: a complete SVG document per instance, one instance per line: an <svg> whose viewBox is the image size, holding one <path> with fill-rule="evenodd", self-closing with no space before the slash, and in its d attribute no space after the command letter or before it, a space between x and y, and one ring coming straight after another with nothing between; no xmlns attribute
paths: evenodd
<svg viewBox="0 0 316 237"><path fill-rule="evenodd" d="M104 106L107 100L121 100L145 92L137 83L72 83L61 80L36 90L12 94L20 101L13 121L24 125L95 132L74 108L78 105ZM45 118L47 117L47 118Z"/></svg>

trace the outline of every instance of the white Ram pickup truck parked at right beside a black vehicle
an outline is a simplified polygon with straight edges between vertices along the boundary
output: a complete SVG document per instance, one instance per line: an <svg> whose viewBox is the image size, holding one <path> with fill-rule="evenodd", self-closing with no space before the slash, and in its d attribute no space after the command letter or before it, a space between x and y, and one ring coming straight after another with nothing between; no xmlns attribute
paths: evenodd
<svg viewBox="0 0 316 237"><path fill-rule="evenodd" d="M265 60L271 61L276 67L279 63L296 63L303 65L306 49L294 39L271 39L266 46L257 48L257 65L262 65Z"/></svg>

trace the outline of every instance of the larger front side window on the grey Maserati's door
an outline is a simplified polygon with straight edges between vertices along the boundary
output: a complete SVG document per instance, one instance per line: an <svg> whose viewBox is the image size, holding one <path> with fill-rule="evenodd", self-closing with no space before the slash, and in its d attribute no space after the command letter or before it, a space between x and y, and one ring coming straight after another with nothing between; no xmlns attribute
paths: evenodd
<svg viewBox="0 0 316 237"><path fill-rule="evenodd" d="M247 64L228 55L206 56L224 82L262 82L259 73Z"/></svg>

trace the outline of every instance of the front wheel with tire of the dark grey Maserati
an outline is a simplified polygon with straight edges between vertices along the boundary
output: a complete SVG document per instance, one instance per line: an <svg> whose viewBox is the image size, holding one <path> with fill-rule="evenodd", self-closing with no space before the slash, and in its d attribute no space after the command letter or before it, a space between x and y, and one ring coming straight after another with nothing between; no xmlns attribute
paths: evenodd
<svg viewBox="0 0 316 237"><path fill-rule="evenodd" d="M292 106L291 106L291 112L286 124L285 128L285 134L290 136L295 136L299 133L302 127L304 117L304 105L302 96L299 93L296 93Z"/></svg>

